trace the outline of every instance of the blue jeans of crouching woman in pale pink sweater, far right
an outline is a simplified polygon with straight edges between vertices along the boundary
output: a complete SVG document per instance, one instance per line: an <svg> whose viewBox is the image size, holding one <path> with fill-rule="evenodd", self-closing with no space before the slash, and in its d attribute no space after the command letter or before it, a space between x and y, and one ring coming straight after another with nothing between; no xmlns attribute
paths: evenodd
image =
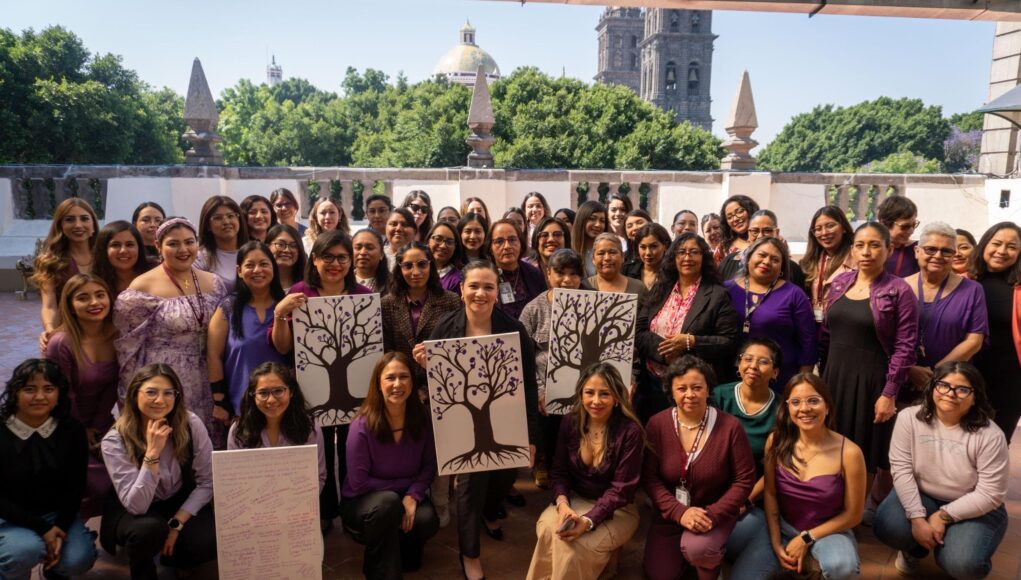
<svg viewBox="0 0 1021 580"><path fill-rule="evenodd" d="M949 503L921 491L919 495L926 516ZM935 548L936 565L958 579L985 578L992 570L992 554L1007 533L1007 510L1001 505L979 518L946 526L943 543ZM872 526L879 541L894 549L915 558L925 558L929 553L911 535L911 520L904 513L904 505L895 490L876 510Z"/></svg>

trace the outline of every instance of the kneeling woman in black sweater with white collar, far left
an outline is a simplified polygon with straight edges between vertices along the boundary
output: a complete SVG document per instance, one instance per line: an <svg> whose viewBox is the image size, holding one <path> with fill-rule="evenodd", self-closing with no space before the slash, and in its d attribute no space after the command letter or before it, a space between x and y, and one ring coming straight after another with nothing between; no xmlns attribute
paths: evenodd
<svg viewBox="0 0 1021 580"><path fill-rule="evenodd" d="M28 580L40 563L63 578L96 561L78 517L89 451L69 390L55 362L30 358L0 399L0 578Z"/></svg>

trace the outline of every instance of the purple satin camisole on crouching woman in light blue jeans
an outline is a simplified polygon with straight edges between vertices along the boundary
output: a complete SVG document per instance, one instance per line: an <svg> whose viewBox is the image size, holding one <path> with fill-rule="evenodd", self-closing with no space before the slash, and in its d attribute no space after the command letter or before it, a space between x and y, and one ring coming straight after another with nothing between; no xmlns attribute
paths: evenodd
<svg viewBox="0 0 1021 580"><path fill-rule="evenodd" d="M776 466L776 495L780 515L795 530L811 530L843 510L843 443L840 442L840 471L801 481L783 467Z"/></svg>

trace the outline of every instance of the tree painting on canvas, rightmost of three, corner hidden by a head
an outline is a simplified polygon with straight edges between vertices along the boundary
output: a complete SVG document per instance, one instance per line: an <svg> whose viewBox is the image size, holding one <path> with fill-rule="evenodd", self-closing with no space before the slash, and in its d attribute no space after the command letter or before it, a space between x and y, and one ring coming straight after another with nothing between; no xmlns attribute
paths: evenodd
<svg viewBox="0 0 1021 580"><path fill-rule="evenodd" d="M546 410L566 415L583 370L610 362L630 383L638 296L618 292L553 290L546 362Z"/></svg>

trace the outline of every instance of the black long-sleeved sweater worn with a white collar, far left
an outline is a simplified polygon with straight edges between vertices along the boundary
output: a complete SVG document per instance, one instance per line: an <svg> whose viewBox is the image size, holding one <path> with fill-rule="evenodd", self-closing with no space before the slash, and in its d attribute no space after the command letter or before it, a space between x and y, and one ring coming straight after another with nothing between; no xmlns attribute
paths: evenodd
<svg viewBox="0 0 1021 580"><path fill-rule="evenodd" d="M43 438L20 439L0 423L0 519L39 535L53 526L42 518L56 513L67 531L85 493L89 446L85 427L67 418Z"/></svg>

